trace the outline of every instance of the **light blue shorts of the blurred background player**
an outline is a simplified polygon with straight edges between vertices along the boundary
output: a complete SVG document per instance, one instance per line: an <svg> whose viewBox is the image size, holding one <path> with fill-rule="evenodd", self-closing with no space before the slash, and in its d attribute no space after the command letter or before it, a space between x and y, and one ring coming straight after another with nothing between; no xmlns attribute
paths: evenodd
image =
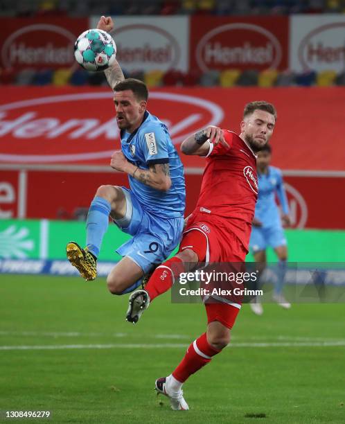
<svg viewBox="0 0 345 424"><path fill-rule="evenodd" d="M252 227L249 241L249 247L252 253L266 250L267 247L275 249L278 246L287 244L283 227Z"/></svg>

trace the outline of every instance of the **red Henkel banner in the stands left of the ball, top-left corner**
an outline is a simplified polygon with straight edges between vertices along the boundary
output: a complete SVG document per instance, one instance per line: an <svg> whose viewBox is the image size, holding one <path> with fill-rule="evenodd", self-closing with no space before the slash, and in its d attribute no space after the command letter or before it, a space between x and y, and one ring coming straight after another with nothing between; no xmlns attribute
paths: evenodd
<svg viewBox="0 0 345 424"><path fill-rule="evenodd" d="M2 17L0 25L0 67L16 71L56 69L74 63L73 45L78 35L89 28L89 19Z"/></svg>

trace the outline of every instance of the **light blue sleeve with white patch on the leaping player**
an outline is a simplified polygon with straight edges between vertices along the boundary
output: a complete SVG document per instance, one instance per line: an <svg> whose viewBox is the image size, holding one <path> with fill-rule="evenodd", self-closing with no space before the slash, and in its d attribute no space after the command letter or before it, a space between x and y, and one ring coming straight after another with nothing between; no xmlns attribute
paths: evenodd
<svg viewBox="0 0 345 424"><path fill-rule="evenodd" d="M140 141L146 164L168 164L168 137L168 132L163 125L145 127Z"/></svg>

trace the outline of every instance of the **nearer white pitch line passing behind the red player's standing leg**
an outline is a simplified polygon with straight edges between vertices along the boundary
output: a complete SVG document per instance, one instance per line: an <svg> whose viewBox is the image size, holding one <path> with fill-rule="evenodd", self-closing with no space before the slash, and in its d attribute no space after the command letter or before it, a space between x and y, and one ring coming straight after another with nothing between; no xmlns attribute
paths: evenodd
<svg viewBox="0 0 345 424"><path fill-rule="evenodd" d="M273 342L273 343L232 343L230 348L266 348L266 347L335 347L345 346L345 340L338 342ZM45 351L66 349L157 349L186 348L186 344L61 344L37 346L0 346L0 351Z"/></svg>

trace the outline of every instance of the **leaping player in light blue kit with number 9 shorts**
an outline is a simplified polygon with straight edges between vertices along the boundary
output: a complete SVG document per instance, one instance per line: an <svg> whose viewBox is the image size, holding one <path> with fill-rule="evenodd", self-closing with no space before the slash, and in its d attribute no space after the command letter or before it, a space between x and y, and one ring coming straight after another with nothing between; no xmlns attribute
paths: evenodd
<svg viewBox="0 0 345 424"><path fill-rule="evenodd" d="M111 18L100 19L98 29L109 32L112 28ZM105 74L114 90L121 130L121 150L112 154L110 166L127 173L130 188L98 188L87 216L87 246L82 249L70 242L67 257L82 277L95 279L96 259L110 216L133 236L117 249L123 259L107 277L109 291L124 294L137 288L143 276L166 260L182 238L184 170L166 125L146 109L145 84L133 78L125 80L117 62Z"/></svg>

